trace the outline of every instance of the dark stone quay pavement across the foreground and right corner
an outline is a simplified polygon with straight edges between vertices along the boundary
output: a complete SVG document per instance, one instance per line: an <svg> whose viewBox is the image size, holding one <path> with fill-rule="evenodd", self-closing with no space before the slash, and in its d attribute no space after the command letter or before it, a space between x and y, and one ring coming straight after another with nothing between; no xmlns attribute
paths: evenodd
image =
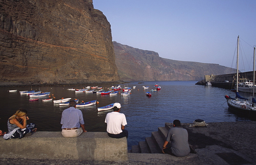
<svg viewBox="0 0 256 165"><path fill-rule="evenodd" d="M166 123L172 126L172 123ZM189 144L196 153L178 158L168 154L128 153L127 161L1 158L1 164L256 164L255 121L207 123L189 127ZM33 135L32 135L33 136Z"/></svg>

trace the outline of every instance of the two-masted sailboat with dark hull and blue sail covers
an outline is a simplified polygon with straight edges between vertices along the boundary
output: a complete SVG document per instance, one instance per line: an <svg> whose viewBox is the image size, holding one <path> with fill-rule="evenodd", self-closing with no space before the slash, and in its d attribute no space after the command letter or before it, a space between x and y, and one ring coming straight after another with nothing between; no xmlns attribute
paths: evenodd
<svg viewBox="0 0 256 165"><path fill-rule="evenodd" d="M256 100L254 99L254 92L252 92L252 101L248 102L247 98L241 97L238 93L238 56L239 56L239 36L237 38L237 78L236 78L236 98L225 95L228 107L234 111L248 113L249 115L256 115ZM253 52L253 91L255 80L255 47Z"/></svg>

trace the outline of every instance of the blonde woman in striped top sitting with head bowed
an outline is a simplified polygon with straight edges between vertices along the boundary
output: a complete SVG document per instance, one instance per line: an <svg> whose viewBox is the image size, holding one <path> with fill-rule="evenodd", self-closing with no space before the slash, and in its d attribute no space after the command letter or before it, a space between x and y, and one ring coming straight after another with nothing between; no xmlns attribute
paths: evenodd
<svg viewBox="0 0 256 165"><path fill-rule="evenodd" d="M16 113L10 117L7 121L8 134L4 135L4 139L23 138L26 134L31 135L31 132L35 132L37 128L34 123L27 124L29 119L27 116L28 111L26 109L18 109Z"/></svg>

